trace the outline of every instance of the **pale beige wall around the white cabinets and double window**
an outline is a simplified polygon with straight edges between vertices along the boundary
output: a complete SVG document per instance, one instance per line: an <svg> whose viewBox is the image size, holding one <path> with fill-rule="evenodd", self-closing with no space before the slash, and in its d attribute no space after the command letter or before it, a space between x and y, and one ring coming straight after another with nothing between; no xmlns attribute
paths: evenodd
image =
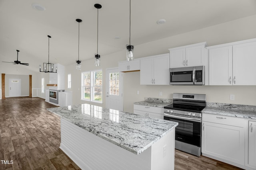
<svg viewBox="0 0 256 170"><path fill-rule="evenodd" d="M256 15L239 20L206 27L196 31L166 37L157 41L135 45L136 58L169 53L168 48L190 45L206 41L209 46L230 43L245 39L256 38ZM100 53L100 52L99 52ZM94 67L94 59L82 61L82 71L98 69ZM103 71L103 84L105 85L106 68L118 66L118 61L126 59L125 45L120 52L101 56ZM74 59L75 61L75 59ZM81 96L81 71L75 70L75 64L66 66L66 74L72 75L73 104L86 103L80 100ZM67 78L65 82L67 87ZM137 90L140 94L137 95ZM159 91L162 96L159 96ZM256 86L146 86L140 85L140 72L124 73L124 111L133 112L133 103L144 100L144 97L172 98L175 92L206 94L207 102L220 102L231 104L256 105ZM234 94L235 100L229 100L229 95ZM106 89L103 87L103 104L106 106Z"/></svg>

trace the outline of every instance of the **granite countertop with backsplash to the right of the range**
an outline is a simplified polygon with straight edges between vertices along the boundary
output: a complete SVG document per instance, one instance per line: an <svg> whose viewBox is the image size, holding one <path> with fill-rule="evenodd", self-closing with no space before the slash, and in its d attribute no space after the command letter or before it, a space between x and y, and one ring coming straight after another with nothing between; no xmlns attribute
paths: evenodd
<svg viewBox="0 0 256 170"><path fill-rule="evenodd" d="M256 120L256 106L249 105L221 104L209 102L202 110L202 113Z"/></svg>

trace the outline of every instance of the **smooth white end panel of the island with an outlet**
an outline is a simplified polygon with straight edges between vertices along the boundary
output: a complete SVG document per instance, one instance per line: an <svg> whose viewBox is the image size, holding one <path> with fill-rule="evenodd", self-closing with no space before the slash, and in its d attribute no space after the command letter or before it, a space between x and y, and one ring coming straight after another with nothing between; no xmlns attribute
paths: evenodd
<svg viewBox="0 0 256 170"><path fill-rule="evenodd" d="M175 128L151 146L151 170L174 170Z"/></svg>

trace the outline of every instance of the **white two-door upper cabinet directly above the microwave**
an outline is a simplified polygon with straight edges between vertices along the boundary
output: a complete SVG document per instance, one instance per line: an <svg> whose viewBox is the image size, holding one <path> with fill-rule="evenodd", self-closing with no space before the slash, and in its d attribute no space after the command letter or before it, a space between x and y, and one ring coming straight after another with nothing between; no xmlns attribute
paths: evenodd
<svg viewBox="0 0 256 170"><path fill-rule="evenodd" d="M203 66L207 57L206 42L175 47L170 51L170 68Z"/></svg>

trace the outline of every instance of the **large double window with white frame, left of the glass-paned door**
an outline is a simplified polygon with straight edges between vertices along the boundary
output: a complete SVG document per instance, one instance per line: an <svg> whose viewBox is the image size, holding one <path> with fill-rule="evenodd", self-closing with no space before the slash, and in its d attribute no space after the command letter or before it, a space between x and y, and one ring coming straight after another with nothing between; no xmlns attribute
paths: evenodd
<svg viewBox="0 0 256 170"><path fill-rule="evenodd" d="M82 72L82 99L102 102L102 70Z"/></svg>

